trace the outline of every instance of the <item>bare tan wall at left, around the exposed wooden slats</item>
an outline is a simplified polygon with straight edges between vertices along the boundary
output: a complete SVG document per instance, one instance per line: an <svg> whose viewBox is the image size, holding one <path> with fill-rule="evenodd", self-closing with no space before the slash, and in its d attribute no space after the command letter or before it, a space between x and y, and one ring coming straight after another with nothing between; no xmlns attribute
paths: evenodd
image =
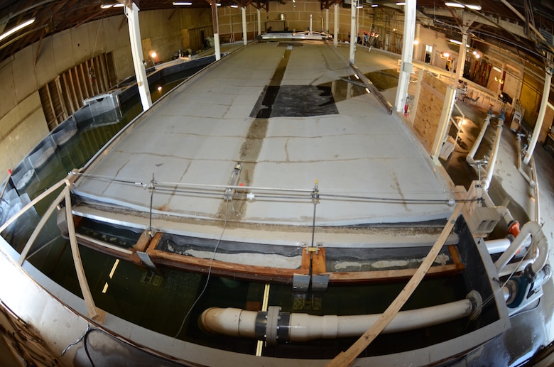
<svg viewBox="0 0 554 367"><path fill-rule="evenodd" d="M198 9L148 11L139 12L139 21L141 38L148 40L162 61L183 48L182 29L211 25L212 16L210 10ZM65 70L109 52L114 55L118 81L134 75L123 11L43 38L40 48L36 43L0 64L0 181L48 134L38 89Z"/></svg>

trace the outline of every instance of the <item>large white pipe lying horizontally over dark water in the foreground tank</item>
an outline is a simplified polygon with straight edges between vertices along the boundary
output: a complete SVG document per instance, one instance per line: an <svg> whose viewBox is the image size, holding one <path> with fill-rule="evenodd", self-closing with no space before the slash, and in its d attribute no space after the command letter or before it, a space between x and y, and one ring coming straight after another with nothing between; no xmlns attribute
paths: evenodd
<svg viewBox="0 0 554 367"><path fill-rule="evenodd" d="M425 307L418 310L401 311L384 329L384 333L404 332L422 327L442 324L474 312L472 300L465 299L444 305ZM256 337L256 311L237 308L212 307L202 312L200 324L208 332L227 336ZM304 313L290 314L288 341L312 339L335 339L337 337L360 336L381 317L381 314L353 316L315 316ZM280 325L279 327L286 327Z"/></svg>

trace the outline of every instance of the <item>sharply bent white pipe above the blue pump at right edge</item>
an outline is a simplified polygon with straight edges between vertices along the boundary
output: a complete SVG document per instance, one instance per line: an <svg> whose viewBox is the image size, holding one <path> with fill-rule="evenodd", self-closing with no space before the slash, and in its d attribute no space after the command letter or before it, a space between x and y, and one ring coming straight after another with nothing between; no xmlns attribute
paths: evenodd
<svg viewBox="0 0 554 367"><path fill-rule="evenodd" d="M523 225L521 231L516 239L511 243L510 247L504 251L496 263L494 263L494 265L496 265L496 269L499 271L502 270L531 235L533 236L533 246L536 246L539 252L536 261L533 262L531 270L533 270L533 275L538 273L538 271L543 268L546 263L546 259L548 258L548 240L543 233L541 224L538 224L536 221L528 221Z"/></svg>

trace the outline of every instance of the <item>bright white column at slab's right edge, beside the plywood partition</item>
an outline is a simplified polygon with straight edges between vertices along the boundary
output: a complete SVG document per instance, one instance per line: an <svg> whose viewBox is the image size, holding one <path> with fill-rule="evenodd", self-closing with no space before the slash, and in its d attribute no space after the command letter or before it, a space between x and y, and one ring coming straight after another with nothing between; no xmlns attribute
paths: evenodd
<svg viewBox="0 0 554 367"><path fill-rule="evenodd" d="M413 36L415 35L415 0L407 0L404 5L404 34L402 39L402 64L398 77L398 89L396 89L395 108L402 112L406 97L408 97L408 84L413 70Z"/></svg>

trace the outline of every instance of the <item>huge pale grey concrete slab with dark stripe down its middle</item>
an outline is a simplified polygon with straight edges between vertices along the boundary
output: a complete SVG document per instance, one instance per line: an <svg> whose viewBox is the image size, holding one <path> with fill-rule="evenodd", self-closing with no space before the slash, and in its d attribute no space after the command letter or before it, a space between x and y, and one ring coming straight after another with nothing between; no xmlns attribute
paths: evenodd
<svg viewBox="0 0 554 367"><path fill-rule="evenodd" d="M310 116L250 117L256 102L269 100L264 90L271 82L300 86L298 90L306 92L298 92L297 98L309 104L320 101L310 99L310 90L347 75L352 75L348 60L332 45L249 45L139 118L86 172L108 182L82 177L74 191L148 212L151 195L146 186L155 177L153 212L223 219L223 209L229 210L224 186L232 182L245 188L239 187L241 195L234 197L229 219L309 226L314 214L311 190L317 180L317 225L448 217L452 207L446 204L451 197L447 184L398 117L387 114L363 89L331 101L336 108L325 109L329 114L312 108ZM297 105L280 97L272 101L264 103L273 103L273 111L286 108L283 104ZM237 163L241 173L234 182ZM292 192L259 190L268 187ZM247 192L253 192L254 199L245 200Z"/></svg>

